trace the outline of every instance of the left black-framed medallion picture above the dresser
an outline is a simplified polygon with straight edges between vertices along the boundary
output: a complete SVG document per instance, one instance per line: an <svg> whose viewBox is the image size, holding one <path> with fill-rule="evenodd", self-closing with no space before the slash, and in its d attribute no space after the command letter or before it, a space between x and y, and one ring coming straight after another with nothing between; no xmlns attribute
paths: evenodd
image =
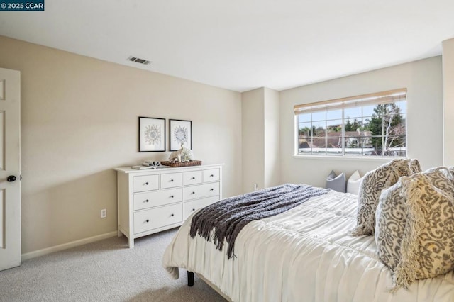
<svg viewBox="0 0 454 302"><path fill-rule="evenodd" d="M165 151L165 118L139 116L139 152Z"/></svg>

